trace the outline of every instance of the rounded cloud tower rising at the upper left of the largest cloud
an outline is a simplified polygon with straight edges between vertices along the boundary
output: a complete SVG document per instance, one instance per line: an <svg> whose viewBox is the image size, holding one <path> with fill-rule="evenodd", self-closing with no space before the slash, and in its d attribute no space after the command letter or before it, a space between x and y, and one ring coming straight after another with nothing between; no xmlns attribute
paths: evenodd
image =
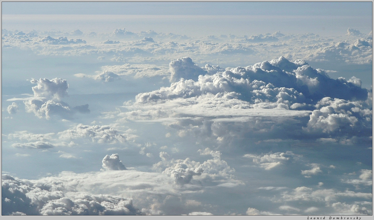
<svg viewBox="0 0 374 220"><path fill-rule="evenodd" d="M169 67L169 71L171 72L171 82L176 82L180 78L197 81L199 75L206 74L206 71L196 65L189 57L183 57L172 61L169 64Z"/></svg>

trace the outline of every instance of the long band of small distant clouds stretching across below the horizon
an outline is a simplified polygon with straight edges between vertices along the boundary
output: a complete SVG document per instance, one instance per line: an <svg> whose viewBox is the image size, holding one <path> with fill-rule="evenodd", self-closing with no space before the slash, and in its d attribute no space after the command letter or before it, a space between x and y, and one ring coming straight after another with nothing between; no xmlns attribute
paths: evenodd
<svg viewBox="0 0 374 220"><path fill-rule="evenodd" d="M79 33L79 32L77 32ZM40 37L41 34L56 36ZM132 32L116 29L107 34L86 34L96 37L98 42L85 42L62 36L75 36L74 33L49 31L3 31L3 47L30 48L36 54L48 55L91 55L108 57L113 61L133 62L157 61L164 63L170 57L193 56L207 62L220 60L221 64L232 65L258 62L274 56L301 58L316 62L334 64L371 64L372 46L355 46L357 40L370 45L372 36L361 34L358 30L348 29L346 36L321 37L318 34L257 34L254 36L206 36L191 39L177 34L156 33L155 31ZM45 35L42 35L45 36ZM359 39L358 39L359 38ZM141 40L139 40L141 39ZM158 39L160 41L157 41ZM103 42L103 40L105 40ZM120 41L118 41L120 40ZM162 42L161 42L162 41ZM165 43L163 43L165 42ZM120 48L117 45L121 45ZM371 43L372 45L372 43ZM43 48L43 49L40 49ZM112 57L112 58L109 58ZM179 76L178 76L179 77ZM186 77L186 76L185 76ZM177 78L176 80L178 80Z"/></svg>

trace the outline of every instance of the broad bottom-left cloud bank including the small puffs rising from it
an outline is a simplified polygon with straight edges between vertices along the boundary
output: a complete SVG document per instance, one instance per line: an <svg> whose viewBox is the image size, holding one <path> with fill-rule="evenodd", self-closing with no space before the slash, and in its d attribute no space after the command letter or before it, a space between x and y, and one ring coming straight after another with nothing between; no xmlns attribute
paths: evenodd
<svg viewBox="0 0 374 220"><path fill-rule="evenodd" d="M222 189L243 183L234 180L234 169L220 159L220 152L207 148L199 153L213 156L213 159L201 164L188 158L165 161L167 154L161 152L162 161L154 167L166 167L165 171L144 172L126 169L119 155L113 154L102 159L104 169L99 172L64 171L38 180L21 180L3 174L2 214L209 214L206 209L198 207L201 202L181 199L182 195L200 194L202 187ZM181 210L170 208L170 202L174 202L173 207L180 207Z"/></svg>

